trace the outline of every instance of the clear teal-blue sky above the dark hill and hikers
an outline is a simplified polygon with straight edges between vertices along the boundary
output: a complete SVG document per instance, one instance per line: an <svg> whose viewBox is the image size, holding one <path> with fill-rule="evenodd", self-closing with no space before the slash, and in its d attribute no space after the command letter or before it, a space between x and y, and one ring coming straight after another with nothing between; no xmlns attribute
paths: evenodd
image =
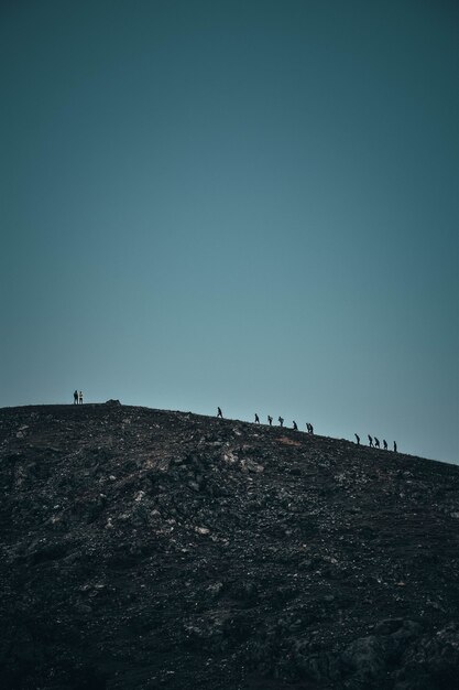
<svg viewBox="0 0 459 690"><path fill-rule="evenodd" d="M458 4L0 4L0 407L459 463Z"/></svg>

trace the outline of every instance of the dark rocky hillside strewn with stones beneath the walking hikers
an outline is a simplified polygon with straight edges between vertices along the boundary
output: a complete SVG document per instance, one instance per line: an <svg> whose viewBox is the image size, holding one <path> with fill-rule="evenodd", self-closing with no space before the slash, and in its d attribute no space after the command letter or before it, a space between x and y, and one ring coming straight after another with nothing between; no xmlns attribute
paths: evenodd
<svg viewBox="0 0 459 690"><path fill-rule="evenodd" d="M0 684L437 690L459 467L106 405L0 410Z"/></svg>

